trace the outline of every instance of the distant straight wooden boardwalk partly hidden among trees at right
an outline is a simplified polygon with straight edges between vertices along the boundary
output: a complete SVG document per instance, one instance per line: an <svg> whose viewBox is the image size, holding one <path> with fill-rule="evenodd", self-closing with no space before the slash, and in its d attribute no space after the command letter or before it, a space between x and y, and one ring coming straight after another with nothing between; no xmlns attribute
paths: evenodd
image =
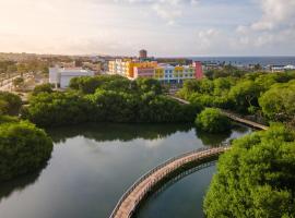
<svg viewBox="0 0 295 218"><path fill-rule="evenodd" d="M175 100L177 100L177 101L179 101L179 102L181 102L181 104L185 104L185 105L189 105L190 104L187 100L184 100L181 98L177 98L177 97L172 96L172 95L169 95L169 97L173 98L173 99L175 99ZM239 117L239 116L237 116L237 114L235 114L233 112L225 111L225 110L222 110L222 109L220 109L220 110L222 111L222 113L224 116L226 116L227 118L229 118L231 120L234 120L236 122L239 122L239 123L243 123L243 124L246 124L246 125L249 125L251 128L259 129L259 130L268 130L269 129L269 126L267 126L267 125L262 125L260 123L257 123L257 122L247 120L247 119L241 118L241 117Z"/></svg>

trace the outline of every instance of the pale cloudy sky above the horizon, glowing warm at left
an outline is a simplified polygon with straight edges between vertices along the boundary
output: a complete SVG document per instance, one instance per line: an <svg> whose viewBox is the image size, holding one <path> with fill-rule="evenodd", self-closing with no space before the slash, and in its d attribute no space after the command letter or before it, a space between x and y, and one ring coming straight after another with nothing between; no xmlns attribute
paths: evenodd
<svg viewBox="0 0 295 218"><path fill-rule="evenodd" d="M0 51L294 56L295 0L0 0Z"/></svg>

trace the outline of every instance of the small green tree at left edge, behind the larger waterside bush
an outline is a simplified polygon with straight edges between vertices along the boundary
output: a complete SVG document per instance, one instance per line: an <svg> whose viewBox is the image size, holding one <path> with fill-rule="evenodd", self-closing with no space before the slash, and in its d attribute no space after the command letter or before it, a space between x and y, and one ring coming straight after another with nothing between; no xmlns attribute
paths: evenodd
<svg viewBox="0 0 295 218"><path fill-rule="evenodd" d="M16 116L22 107L20 96L8 92L0 92L0 116L10 114Z"/></svg>

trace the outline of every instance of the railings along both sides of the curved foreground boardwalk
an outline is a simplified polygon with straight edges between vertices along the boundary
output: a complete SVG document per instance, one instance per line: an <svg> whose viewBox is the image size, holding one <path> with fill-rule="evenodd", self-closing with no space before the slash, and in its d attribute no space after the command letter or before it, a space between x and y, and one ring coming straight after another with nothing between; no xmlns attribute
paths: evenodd
<svg viewBox="0 0 295 218"><path fill-rule="evenodd" d="M133 210L135 209L135 207L139 205L139 203L142 201L142 198L146 195L148 192L151 191L151 189L156 185L162 179L164 179L166 175L168 175L169 173L174 172L175 170L177 170L178 168L182 167L184 165L187 165L189 162L193 162L197 160L201 160L203 158L209 158L215 155L219 155L221 153L224 153L225 150L229 149L229 145L228 143L221 145L220 147L214 147L214 148L199 148L197 150L192 150L186 154L182 154L178 157L174 157L170 158L169 160L163 162L162 165L157 166L156 168L150 170L148 173L143 174L139 180L137 180L127 191L126 193L121 196L121 198L119 199L119 202L117 203L115 209L113 210L111 215L109 218L115 218L115 217L130 217L133 213ZM192 156L194 155L196 156ZM199 156L197 156L199 155ZM185 157L188 157L188 159L186 159ZM167 171L165 171L164 173L161 174L160 179L157 181L153 181L150 182L148 185L145 185L145 189L141 191L139 197L137 199L133 199L133 206L132 209L130 209L130 211L128 211L127 216L117 216L118 211L121 209L122 203L129 197L129 195L141 184L143 183L145 180L148 180L149 177L152 177L153 174L155 174L156 171L164 169L166 166L170 165L172 162L181 160L180 162L178 162L176 166L174 166L174 168L168 169ZM122 209L123 210L123 209Z"/></svg>

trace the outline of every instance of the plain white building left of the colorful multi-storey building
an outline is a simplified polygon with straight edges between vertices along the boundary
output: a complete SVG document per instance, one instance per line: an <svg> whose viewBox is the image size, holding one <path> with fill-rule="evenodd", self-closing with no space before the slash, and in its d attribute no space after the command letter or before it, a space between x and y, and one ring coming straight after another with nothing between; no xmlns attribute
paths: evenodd
<svg viewBox="0 0 295 218"><path fill-rule="evenodd" d="M80 76L94 76L94 72L81 68L49 68L49 83L56 87L67 88L71 78Z"/></svg>

